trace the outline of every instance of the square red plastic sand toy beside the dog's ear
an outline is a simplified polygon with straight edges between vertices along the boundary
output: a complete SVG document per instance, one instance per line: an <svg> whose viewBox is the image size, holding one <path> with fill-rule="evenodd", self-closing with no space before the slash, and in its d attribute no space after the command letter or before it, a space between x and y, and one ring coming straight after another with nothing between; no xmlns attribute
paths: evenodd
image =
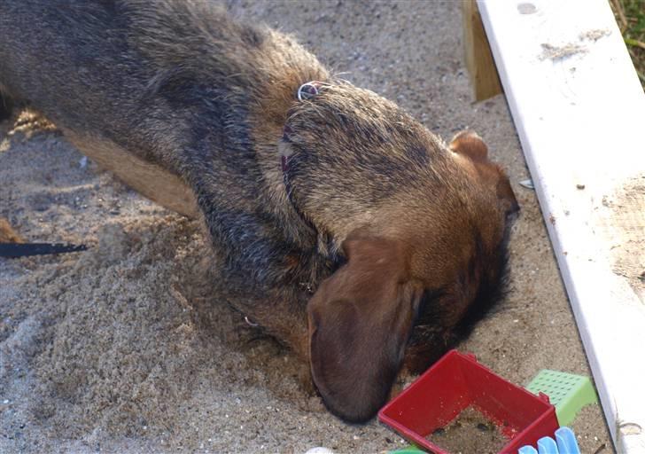
<svg viewBox="0 0 645 454"><path fill-rule="evenodd" d="M408 441L436 454L449 454L425 437L474 406L509 442L501 453L517 453L559 427L548 396L532 395L479 364L472 354L449 351L378 412L378 419Z"/></svg>

